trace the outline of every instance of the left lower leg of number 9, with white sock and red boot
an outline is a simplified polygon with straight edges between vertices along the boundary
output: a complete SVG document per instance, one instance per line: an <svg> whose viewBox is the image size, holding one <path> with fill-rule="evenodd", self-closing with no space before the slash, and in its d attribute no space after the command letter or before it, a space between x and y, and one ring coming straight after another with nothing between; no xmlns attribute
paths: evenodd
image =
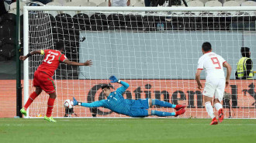
<svg viewBox="0 0 256 143"><path fill-rule="evenodd" d="M210 124L218 124L218 121L216 120L216 117L214 116L214 113L213 113L212 100L213 100L212 97L204 96L206 111L209 114L209 117L212 118L212 121Z"/></svg>

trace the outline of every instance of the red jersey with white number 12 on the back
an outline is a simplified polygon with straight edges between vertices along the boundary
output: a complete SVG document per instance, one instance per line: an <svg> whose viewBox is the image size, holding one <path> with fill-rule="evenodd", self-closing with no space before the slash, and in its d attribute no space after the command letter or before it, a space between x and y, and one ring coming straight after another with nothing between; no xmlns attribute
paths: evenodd
<svg viewBox="0 0 256 143"><path fill-rule="evenodd" d="M67 60L67 57L58 50L42 49L41 54L44 54L43 63L38 66L37 70L47 73L50 77L54 76L55 70L61 62Z"/></svg>

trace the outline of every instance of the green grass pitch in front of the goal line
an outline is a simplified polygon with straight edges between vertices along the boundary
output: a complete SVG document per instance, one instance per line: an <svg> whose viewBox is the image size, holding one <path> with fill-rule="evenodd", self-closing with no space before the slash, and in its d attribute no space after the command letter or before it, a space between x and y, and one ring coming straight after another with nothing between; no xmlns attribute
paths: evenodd
<svg viewBox="0 0 256 143"><path fill-rule="evenodd" d="M250 143L256 141L256 120L224 120L209 125L210 119L178 118L88 118L0 119L2 143Z"/></svg>

